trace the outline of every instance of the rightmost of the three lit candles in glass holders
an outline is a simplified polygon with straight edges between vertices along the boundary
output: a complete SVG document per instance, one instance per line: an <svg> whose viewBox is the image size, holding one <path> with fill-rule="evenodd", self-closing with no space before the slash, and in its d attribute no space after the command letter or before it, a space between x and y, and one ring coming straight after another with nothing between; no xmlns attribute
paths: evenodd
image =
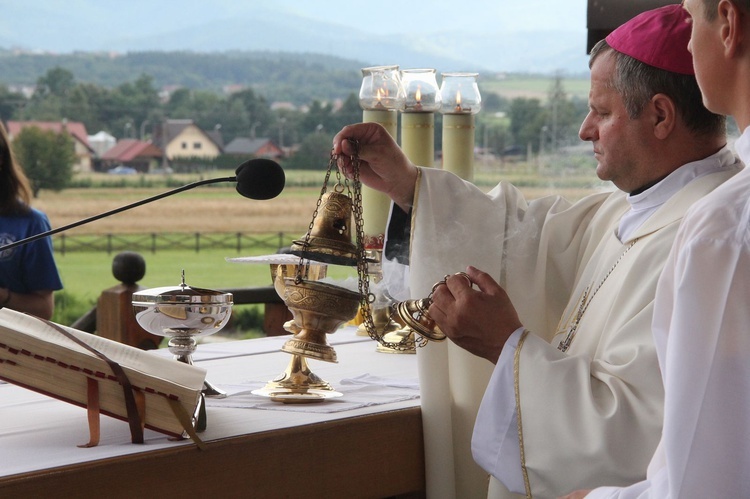
<svg viewBox="0 0 750 499"><path fill-rule="evenodd" d="M443 169L472 181L474 115L481 108L477 73L444 73L440 87L443 113Z"/></svg>

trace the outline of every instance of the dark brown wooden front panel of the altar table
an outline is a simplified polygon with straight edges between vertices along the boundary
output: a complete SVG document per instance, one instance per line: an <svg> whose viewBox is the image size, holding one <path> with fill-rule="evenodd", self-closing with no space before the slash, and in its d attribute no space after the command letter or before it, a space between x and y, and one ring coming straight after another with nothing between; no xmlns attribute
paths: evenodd
<svg viewBox="0 0 750 499"><path fill-rule="evenodd" d="M419 408L0 479L0 497L424 497Z"/></svg>

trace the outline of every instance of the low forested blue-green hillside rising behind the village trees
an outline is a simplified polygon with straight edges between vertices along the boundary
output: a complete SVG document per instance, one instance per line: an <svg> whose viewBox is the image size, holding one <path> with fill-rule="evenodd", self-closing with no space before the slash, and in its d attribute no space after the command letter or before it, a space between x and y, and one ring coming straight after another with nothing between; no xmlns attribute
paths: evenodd
<svg viewBox="0 0 750 499"><path fill-rule="evenodd" d="M344 99L357 93L366 63L321 54L268 51L32 54L0 49L0 85L33 87L48 70L63 67L78 82L113 88L146 74L157 88L185 87L223 93L250 87L268 102L295 105ZM544 99L551 76L480 72L483 92ZM588 76L566 79L571 96L585 99Z"/></svg>

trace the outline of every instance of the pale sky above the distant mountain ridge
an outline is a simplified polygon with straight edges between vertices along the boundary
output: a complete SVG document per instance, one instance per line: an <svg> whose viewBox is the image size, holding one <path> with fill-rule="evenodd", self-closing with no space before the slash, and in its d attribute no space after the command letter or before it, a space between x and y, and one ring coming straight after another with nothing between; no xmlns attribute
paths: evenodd
<svg viewBox="0 0 750 499"><path fill-rule="evenodd" d="M97 25L109 26L112 36L139 36L159 27L251 18L264 9L285 9L368 33L555 29L583 36L586 6L586 0L0 0L0 43L47 49L37 45L49 43L51 33L66 34L57 37L58 44L84 38Z"/></svg>

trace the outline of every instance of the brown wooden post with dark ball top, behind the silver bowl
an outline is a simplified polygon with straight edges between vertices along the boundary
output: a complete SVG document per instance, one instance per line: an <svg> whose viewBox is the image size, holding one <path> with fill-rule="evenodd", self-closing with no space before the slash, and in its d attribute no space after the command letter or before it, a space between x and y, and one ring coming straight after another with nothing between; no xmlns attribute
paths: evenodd
<svg viewBox="0 0 750 499"><path fill-rule="evenodd" d="M143 350L158 348L163 338L143 329L133 313L133 293L142 289L136 283L146 274L146 261L139 253L119 253L112 260L112 274L120 284L99 296L97 335Z"/></svg>

